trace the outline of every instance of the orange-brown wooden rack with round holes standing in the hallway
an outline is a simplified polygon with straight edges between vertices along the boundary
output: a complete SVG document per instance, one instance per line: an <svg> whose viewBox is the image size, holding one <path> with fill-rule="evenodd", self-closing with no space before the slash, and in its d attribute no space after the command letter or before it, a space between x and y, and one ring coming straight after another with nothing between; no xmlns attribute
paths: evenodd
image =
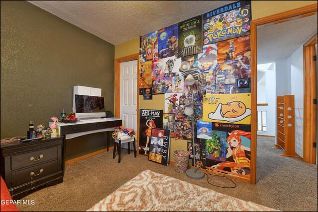
<svg viewBox="0 0 318 212"><path fill-rule="evenodd" d="M281 156L295 156L294 95L277 96L277 144L285 152Z"/></svg>

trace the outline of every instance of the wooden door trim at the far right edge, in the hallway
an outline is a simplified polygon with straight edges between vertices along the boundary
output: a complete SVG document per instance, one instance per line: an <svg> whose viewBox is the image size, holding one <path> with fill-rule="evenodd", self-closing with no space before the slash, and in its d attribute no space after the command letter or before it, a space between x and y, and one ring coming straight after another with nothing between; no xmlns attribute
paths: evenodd
<svg viewBox="0 0 318 212"><path fill-rule="evenodd" d="M303 47L304 53L304 140L303 140L303 161L316 163L316 148L313 142L316 141L317 128L317 105L313 104L317 98L317 61L313 61L316 55L317 33L309 38Z"/></svg>

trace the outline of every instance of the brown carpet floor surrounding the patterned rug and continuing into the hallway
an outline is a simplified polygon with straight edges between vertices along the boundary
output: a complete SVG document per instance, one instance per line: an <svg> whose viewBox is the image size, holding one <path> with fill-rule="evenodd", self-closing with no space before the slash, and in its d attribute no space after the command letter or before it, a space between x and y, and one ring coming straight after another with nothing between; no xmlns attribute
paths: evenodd
<svg viewBox="0 0 318 212"><path fill-rule="evenodd" d="M118 155L112 159L111 150L66 165L63 183L29 193L22 200L33 200L34 205L17 207L21 211L86 211L149 169L280 211L317 211L317 165L279 156L283 152L272 148L273 144L273 138L257 138L256 185L235 181L234 189L215 187L207 182L207 176L192 180L185 173L175 172L173 165L163 166L140 156L134 158L128 150L122 151L118 163ZM218 186L232 185L229 179L213 175L209 181Z"/></svg>

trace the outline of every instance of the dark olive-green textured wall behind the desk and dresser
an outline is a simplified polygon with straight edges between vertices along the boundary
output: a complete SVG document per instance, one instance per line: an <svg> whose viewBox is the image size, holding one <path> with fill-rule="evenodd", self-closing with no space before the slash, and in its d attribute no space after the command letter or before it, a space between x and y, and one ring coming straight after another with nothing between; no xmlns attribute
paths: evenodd
<svg viewBox="0 0 318 212"><path fill-rule="evenodd" d="M1 1L1 139L72 112L73 86L114 112L114 45L26 1Z"/></svg>

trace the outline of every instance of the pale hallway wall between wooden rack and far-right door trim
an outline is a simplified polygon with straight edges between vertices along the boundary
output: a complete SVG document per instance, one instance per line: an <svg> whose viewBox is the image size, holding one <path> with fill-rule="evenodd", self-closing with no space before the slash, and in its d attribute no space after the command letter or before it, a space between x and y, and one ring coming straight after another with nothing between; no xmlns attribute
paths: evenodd
<svg viewBox="0 0 318 212"><path fill-rule="evenodd" d="M288 59L290 71L290 93L295 95L295 151L303 157L304 139L304 59L303 46L298 48Z"/></svg>

